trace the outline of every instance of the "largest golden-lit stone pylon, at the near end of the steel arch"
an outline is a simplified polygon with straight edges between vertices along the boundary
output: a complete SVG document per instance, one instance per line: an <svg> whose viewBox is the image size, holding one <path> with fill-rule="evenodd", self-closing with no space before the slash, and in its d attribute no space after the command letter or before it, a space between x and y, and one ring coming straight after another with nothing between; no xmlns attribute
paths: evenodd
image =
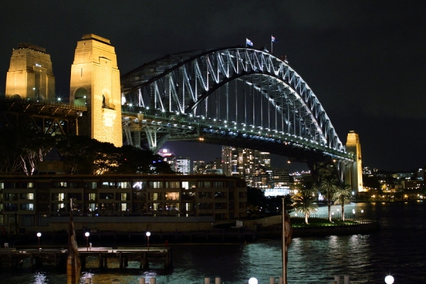
<svg viewBox="0 0 426 284"><path fill-rule="evenodd" d="M114 47L92 33L77 42L71 66L70 104L86 105L78 119L78 135L123 145L120 72Z"/></svg>

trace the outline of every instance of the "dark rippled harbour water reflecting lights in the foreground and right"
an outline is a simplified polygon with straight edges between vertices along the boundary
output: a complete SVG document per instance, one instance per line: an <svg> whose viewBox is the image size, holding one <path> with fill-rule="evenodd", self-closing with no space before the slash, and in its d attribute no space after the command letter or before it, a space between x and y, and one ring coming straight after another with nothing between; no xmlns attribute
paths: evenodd
<svg viewBox="0 0 426 284"><path fill-rule="evenodd" d="M338 205L332 207L335 216ZM393 275L395 284L426 283L426 202L355 203L345 211L356 217L379 219L381 230L373 234L295 238L288 255L288 283L331 283L334 275L349 275L351 283L385 283ZM361 213L361 210L364 212ZM320 207L318 214L327 214ZM170 244L173 269L164 271L163 263L144 271L139 263L119 269L118 261L109 268L97 268L97 260L87 261L82 271L92 283L138 284L138 278L155 277L157 283L204 283L204 277L220 277L222 283L247 283L256 277L269 283L282 274L280 240L261 239L246 244ZM66 283L64 271L43 266L33 271L25 265L17 271L2 268L0 283Z"/></svg>

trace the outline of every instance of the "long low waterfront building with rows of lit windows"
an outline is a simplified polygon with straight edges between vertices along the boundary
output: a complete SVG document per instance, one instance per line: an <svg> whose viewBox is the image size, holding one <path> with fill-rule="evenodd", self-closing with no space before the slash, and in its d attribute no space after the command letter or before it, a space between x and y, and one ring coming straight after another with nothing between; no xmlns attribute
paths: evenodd
<svg viewBox="0 0 426 284"><path fill-rule="evenodd" d="M78 228L168 222L179 229L175 223L206 220L211 226L246 217L246 202L246 182L224 175L0 175L0 226L27 231L67 229L70 210Z"/></svg>

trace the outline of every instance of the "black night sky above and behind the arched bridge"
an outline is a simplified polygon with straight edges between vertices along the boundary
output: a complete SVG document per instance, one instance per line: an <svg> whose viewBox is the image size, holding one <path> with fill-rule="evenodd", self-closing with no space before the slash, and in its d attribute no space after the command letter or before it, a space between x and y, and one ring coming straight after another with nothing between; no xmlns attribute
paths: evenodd
<svg viewBox="0 0 426 284"><path fill-rule="evenodd" d="M425 11L426 1L1 1L0 93L18 43L46 48L56 92L66 95L84 33L111 40L121 74L166 54L246 38L270 49L274 35L273 54L288 56L340 140L359 133L364 165L413 170L426 164ZM217 146L166 146L192 160L220 156Z"/></svg>

